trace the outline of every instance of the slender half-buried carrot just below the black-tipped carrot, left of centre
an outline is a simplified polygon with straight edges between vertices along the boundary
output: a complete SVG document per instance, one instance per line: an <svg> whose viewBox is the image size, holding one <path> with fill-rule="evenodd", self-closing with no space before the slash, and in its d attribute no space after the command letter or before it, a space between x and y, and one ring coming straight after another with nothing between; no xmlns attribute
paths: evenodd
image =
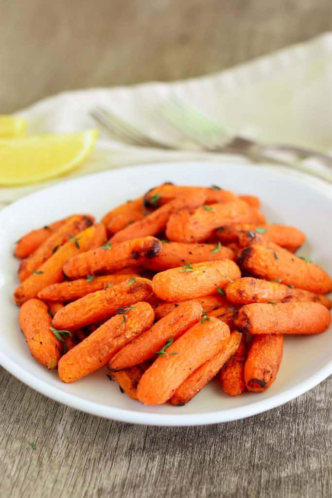
<svg viewBox="0 0 332 498"><path fill-rule="evenodd" d="M81 297L95 292L96 290L105 289L107 286L112 286L120 282L125 282L129 278L137 277L137 273L122 274L122 275L104 275L95 277L93 280L80 278L67 282L53 283L47 285L38 292L39 299L47 299L50 301L69 302L80 299Z"/></svg>

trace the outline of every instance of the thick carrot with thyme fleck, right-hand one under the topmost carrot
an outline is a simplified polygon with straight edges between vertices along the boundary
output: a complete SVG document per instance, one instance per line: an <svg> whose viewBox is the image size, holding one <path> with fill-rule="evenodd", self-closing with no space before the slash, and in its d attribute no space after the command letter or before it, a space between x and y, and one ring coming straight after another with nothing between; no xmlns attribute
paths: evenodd
<svg viewBox="0 0 332 498"><path fill-rule="evenodd" d="M224 204L211 204L197 208L186 221L181 234L170 230L174 220L170 219L166 235L175 242L203 242L212 236L221 225L232 223L261 223L262 215L255 208L251 208L245 201L237 199ZM175 218L175 217L174 217ZM178 239L175 237L178 235Z"/></svg>

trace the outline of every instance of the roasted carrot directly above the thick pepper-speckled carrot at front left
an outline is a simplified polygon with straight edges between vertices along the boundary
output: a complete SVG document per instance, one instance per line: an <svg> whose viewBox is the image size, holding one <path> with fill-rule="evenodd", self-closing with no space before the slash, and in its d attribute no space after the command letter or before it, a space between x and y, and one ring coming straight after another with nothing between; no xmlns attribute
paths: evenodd
<svg viewBox="0 0 332 498"><path fill-rule="evenodd" d="M67 304L55 314L52 324L59 330L76 330L109 318L118 308L144 301L151 294L151 281L147 278L136 278L133 283L121 282Z"/></svg>

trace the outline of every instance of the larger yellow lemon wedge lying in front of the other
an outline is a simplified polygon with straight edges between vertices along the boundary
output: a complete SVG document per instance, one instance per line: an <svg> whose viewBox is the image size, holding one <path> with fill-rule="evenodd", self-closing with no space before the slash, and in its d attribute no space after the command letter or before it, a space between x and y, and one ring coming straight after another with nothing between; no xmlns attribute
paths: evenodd
<svg viewBox="0 0 332 498"><path fill-rule="evenodd" d="M0 185L26 185L63 175L92 152L98 131L0 139Z"/></svg>

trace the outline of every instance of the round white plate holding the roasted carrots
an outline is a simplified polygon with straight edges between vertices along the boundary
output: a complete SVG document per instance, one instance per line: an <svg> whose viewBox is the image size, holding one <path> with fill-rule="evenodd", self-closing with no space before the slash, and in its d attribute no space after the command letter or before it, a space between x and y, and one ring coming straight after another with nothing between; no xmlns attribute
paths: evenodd
<svg viewBox="0 0 332 498"><path fill-rule="evenodd" d="M225 163L167 163L111 170L64 182L11 204L0 212L0 363L37 391L61 403L102 417L153 425L198 425L248 417L311 389L332 373L332 331L287 337L277 380L260 394L229 397L218 380L186 406L147 407L121 394L101 369L73 384L62 383L30 356L17 322L12 293L18 284L14 242L32 228L73 212L101 217L117 204L164 181L220 185L260 197L274 223L295 225L308 236L300 251L332 274L332 188L293 172Z"/></svg>

